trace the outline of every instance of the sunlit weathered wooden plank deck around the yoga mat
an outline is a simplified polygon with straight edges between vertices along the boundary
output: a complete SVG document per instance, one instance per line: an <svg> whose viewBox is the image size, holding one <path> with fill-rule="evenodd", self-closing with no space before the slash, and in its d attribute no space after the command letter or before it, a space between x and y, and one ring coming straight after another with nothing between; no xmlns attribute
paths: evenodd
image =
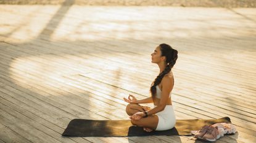
<svg viewBox="0 0 256 143"><path fill-rule="evenodd" d="M73 118L128 119L149 96L150 54L178 50L178 119L228 116L256 142L256 9L0 5L0 142L200 142L191 136L62 137ZM149 106L152 106L149 104Z"/></svg>

